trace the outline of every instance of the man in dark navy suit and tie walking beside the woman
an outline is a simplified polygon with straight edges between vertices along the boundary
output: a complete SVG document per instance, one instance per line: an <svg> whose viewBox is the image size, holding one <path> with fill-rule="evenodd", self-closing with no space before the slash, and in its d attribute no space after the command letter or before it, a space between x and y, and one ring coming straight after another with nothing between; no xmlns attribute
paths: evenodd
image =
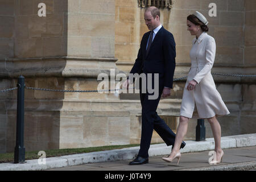
<svg viewBox="0 0 256 182"><path fill-rule="evenodd" d="M154 88L159 89L159 94L155 100L150 99L149 96L152 93L149 93L148 90L143 93L143 83L140 83L142 105L141 146L137 158L130 162L130 165L148 163L148 149L150 148L153 129L166 142L167 146L174 145L176 136L156 113L160 97L170 96L170 90L172 89L176 57L174 36L164 29L160 23L160 11L156 7L151 6L146 9L144 20L151 31L143 35L137 59L130 73L144 73L145 75L152 73L152 80L154 79L154 74L158 73L158 83L154 85L153 82L152 85ZM147 76L146 79L148 82L149 78ZM129 83L131 82L133 80L127 79L123 86L129 88ZM185 143L181 143L181 148L184 146Z"/></svg>

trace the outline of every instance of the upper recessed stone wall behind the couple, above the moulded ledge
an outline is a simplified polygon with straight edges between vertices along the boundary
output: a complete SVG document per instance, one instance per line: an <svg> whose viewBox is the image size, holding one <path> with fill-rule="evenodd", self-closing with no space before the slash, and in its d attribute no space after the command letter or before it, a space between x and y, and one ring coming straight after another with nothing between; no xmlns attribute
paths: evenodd
<svg viewBox="0 0 256 182"><path fill-rule="evenodd" d="M216 17L208 15L210 2L215 2L217 5ZM144 9L137 6L136 1L116 1L115 57L118 58L119 67L134 62L142 35L148 31L144 24ZM174 34L177 65L190 64L189 51L194 37L187 31L187 16L196 10L207 16L208 34L216 39L215 65L245 64L243 63L245 1L181 0L174 1L171 10L160 9L163 26Z"/></svg>

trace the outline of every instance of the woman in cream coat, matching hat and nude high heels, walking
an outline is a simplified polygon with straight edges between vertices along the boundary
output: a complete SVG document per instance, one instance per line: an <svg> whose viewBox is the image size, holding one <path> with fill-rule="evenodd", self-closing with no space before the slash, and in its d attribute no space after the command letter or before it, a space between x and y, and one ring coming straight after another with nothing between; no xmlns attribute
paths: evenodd
<svg viewBox="0 0 256 182"><path fill-rule="evenodd" d="M221 127L216 116L229 114L220 93L218 93L211 74L216 44L212 36L207 34L207 19L196 11L187 17L188 31L196 35L190 52L191 69L185 84L180 109L180 123L177 128L175 144L171 154L162 158L167 162L180 159L180 145L187 134L189 118L207 118L212 128L216 152L210 164L220 163L224 152L221 150ZM195 108L196 107L196 108Z"/></svg>

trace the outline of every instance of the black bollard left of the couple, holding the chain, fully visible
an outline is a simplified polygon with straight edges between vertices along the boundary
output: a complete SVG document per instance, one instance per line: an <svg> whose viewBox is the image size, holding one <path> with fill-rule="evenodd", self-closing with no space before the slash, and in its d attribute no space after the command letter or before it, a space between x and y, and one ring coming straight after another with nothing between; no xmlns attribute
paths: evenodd
<svg viewBox="0 0 256 182"><path fill-rule="evenodd" d="M25 163L24 147L24 87L25 78L18 78L17 118L16 118L16 146L14 150L14 163Z"/></svg>

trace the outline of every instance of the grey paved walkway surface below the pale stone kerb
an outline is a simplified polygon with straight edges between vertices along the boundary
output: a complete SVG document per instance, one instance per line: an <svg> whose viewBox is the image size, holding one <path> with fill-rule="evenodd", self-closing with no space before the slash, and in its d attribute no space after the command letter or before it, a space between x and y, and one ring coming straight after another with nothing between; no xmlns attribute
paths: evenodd
<svg viewBox="0 0 256 182"><path fill-rule="evenodd" d="M176 170L255 170L256 146L225 149L221 164L210 165L209 151L181 154L179 166L164 162L163 156L149 158L148 164L129 166L131 160L83 164L79 166L49 169L49 171L176 171ZM166 156L166 155L164 155Z"/></svg>

